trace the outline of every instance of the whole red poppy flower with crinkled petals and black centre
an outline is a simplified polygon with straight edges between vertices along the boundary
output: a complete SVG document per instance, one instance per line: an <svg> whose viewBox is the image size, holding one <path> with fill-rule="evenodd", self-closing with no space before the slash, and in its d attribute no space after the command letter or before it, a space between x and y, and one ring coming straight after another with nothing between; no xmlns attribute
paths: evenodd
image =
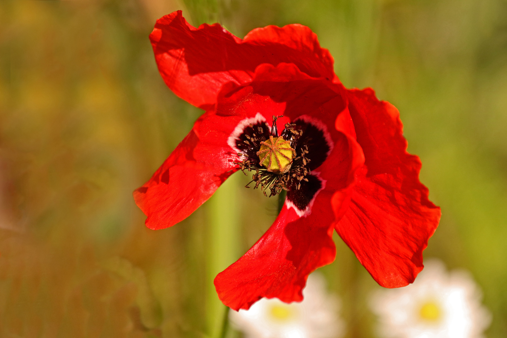
<svg viewBox="0 0 507 338"><path fill-rule="evenodd" d="M414 281L440 219L419 158L406 152L397 109L372 89L346 89L308 27L241 40L178 11L150 39L167 86L206 112L134 192L147 226L183 220L238 170L270 196L287 191L271 228L216 276L225 305L301 301L308 275L335 259L334 229L380 285Z"/></svg>

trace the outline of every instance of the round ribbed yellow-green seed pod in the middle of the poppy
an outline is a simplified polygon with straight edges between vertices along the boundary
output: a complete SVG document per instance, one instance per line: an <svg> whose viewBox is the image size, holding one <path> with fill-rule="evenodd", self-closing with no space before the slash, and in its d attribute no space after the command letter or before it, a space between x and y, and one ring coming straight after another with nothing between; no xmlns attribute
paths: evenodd
<svg viewBox="0 0 507 338"><path fill-rule="evenodd" d="M274 173L285 173L291 169L292 157L296 155L291 148L291 141L286 141L281 136L269 136L269 140L260 143L261 148L257 152L259 164Z"/></svg>

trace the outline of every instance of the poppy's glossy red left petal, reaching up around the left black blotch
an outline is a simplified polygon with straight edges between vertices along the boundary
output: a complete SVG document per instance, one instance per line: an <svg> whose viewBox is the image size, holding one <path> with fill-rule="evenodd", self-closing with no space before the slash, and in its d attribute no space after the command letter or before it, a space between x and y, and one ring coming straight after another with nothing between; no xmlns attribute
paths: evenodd
<svg viewBox="0 0 507 338"><path fill-rule="evenodd" d="M136 204L148 216L147 227L163 229L185 219L236 171L232 162L239 158L228 138L241 120L260 113L271 124L272 116L285 108L284 102L252 94L251 87L225 92L216 112L201 116L152 178L134 192Z"/></svg>

